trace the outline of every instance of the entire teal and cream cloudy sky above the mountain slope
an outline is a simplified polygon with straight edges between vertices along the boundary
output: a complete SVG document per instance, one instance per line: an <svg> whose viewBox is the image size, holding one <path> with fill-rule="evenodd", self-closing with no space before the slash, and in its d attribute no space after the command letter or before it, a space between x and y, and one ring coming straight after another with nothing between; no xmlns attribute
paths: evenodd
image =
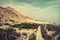
<svg viewBox="0 0 60 40"><path fill-rule="evenodd" d="M60 24L60 0L0 0L0 6L11 6L35 20Z"/></svg>

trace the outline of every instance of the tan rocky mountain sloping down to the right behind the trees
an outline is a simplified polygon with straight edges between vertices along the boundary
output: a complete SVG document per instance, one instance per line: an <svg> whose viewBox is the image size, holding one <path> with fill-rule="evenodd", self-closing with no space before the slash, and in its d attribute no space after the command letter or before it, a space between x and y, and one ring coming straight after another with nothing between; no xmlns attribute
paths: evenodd
<svg viewBox="0 0 60 40"><path fill-rule="evenodd" d="M45 24L47 22L39 22L35 21L32 18L22 15L14 8L8 7L0 7L0 24L15 24L15 23L42 23ZM47 23L48 24L48 23Z"/></svg>

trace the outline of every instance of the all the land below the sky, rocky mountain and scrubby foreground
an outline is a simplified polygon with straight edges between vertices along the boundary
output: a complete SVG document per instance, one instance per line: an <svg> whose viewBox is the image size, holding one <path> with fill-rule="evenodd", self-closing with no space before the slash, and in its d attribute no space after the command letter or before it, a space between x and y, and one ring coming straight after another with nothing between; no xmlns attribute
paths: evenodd
<svg viewBox="0 0 60 40"><path fill-rule="evenodd" d="M36 21L11 7L0 7L0 40L60 40L60 25Z"/></svg>

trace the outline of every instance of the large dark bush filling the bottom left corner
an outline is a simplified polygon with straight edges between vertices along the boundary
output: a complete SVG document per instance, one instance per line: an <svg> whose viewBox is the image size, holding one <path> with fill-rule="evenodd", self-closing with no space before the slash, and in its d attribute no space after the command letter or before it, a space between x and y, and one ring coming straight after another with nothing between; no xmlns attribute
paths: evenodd
<svg viewBox="0 0 60 40"><path fill-rule="evenodd" d="M0 29L0 40L16 40L20 34L15 29Z"/></svg>

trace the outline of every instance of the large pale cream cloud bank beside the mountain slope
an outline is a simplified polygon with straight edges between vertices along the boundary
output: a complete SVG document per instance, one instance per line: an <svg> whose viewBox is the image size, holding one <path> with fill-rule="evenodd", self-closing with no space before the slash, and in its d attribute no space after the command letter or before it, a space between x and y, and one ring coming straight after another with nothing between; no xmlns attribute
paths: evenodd
<svg viewBox="0 0 60 40"><path fill-rule="evenodd" d="M24 6L18 5L17 10L32 18L58 23L60 19L58 19L59 12L55 9L57 6L58 5L36 8L29 4L24 4Z"/></svg>

